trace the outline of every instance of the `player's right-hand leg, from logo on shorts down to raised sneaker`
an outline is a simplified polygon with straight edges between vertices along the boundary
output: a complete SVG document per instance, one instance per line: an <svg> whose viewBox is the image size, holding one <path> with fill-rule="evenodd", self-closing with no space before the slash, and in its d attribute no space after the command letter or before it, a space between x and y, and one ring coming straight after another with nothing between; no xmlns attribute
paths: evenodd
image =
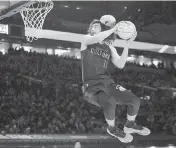
<svg viewBox="0 0 176 148"><path fill-rule="evenodd" d="M117 84L112 84L109 87L109 93L114 97L117 104L127 105L127 122L124 126L125 133L149 135L150 130L148 128L135 123L140 108L140 98Z"/></svg>

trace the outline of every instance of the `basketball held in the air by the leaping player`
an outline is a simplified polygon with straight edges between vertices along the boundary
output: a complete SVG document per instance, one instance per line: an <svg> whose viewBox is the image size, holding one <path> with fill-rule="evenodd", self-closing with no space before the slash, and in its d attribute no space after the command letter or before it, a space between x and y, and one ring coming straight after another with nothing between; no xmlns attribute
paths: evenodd
<svg viewBox="0 0 176 148"><path fill-rule="evenodd" d="M128 40L136 31L135 25L130 21L121 21L118 23L116 34L123 40Z"/></svg>

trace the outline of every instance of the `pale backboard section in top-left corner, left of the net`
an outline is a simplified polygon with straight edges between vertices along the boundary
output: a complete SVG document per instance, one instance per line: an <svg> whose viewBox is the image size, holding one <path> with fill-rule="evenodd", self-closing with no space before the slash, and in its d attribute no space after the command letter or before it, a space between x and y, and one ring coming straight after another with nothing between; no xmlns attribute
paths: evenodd
<svg viewBox="0 0 176 148"><path fill-rule="evenodd" d="M0 20L10 17L27 5L31 5L35 1L21 1L21 0L4 0L0 1Z"/></svg>

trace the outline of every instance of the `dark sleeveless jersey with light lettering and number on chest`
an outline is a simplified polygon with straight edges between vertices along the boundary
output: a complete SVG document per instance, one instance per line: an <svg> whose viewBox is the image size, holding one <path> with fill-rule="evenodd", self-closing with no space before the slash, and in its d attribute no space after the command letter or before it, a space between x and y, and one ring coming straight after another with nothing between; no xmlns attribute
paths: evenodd
<svg viewBox="0 0 176 148"><path fill-rule="evenodd" d="M108 45L95 43L81 51L83 82L109 73L111 50Z"/></svg>

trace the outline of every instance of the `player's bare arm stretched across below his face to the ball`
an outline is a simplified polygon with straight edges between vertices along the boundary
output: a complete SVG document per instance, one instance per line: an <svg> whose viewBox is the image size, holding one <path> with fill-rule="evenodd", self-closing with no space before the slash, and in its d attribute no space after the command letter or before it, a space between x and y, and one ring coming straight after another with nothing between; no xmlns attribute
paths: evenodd
<svg viewBox="0 0 176 148"><path fill-rule="evenodd" d="M107 30L107 31L103 31L100 33L97 33L93 36L91 35L85 35L83 42L82 42L82 47L81 50L85 50L87 45L92 45L98 42L102 42L104 39L106 39L108 36L110 36L112 33L114 33L117 30L118 24L116 24L113 28Z"/></svg>

